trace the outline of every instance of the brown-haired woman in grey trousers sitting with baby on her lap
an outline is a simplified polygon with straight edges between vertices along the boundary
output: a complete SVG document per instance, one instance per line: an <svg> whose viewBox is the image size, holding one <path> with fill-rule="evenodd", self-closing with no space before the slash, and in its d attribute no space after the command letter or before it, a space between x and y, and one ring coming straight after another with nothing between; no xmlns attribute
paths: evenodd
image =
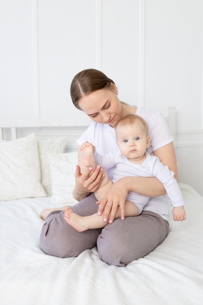
<svg viewBox="0 0 203 305"><path fill-rule="evenodd" d="M87 69L78 73L71 84L71 97L76 108L85 112L92 124L81 135L77 143L92 143L100 154L118 151L114 126L127 114L137 114L145 119L150 135L148 152L159 157L160 161L174 172L177 179L177 163L173 139L164 117L153 111L132 107L120 102L117 88L113 80L102 72ZM125 266L135 259L144 257L166 238L169 231L167 215L169 201L166 191L155 177L124 177L116 181L111 189L95 204L92 194L100 185L103 174L97 166L85 170L78 151L78 166L75 172L74 198L79 201L72 210L79 215L93 213L109 219L104 229L91 229L77 232L64 219L64 210L43 210L41 217L45 219L40 236L42 250L53 256L74 257L85 249L97 246L102 261L109 265ZM113 169L108 171L112 179ZM137 217L115 219L117 207L124 213L128 191L134 191L150 199L142 213ZM62 210L62 211L61 211ZM114 221L113 221L114 220ZM111 223L112 222L112 223Z"/></svg>

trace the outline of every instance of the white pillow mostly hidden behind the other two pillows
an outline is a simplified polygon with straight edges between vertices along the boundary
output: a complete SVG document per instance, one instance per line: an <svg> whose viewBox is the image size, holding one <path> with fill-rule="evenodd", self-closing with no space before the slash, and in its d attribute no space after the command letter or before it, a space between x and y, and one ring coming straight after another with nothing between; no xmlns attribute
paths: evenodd
<svg viewBox="0 0 203 305"><path fill-rule="evenodd" d="M47 196L52 195L51 175L48 163L48 153L65 152L66 138L55 140L41 140L37 142L39 163L41 171L41 184L47 193Z"/></svg>

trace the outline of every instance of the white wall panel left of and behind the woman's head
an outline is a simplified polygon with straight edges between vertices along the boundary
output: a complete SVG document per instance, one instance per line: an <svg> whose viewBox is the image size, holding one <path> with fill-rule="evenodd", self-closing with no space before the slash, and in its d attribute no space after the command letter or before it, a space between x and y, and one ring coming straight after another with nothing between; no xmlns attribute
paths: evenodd
<svg viewBox="0 0 203 305"><path fill-rule="evenodd" d="M40 117L80 118L70 84L97 63L95 0L37 2Z"/></svg>

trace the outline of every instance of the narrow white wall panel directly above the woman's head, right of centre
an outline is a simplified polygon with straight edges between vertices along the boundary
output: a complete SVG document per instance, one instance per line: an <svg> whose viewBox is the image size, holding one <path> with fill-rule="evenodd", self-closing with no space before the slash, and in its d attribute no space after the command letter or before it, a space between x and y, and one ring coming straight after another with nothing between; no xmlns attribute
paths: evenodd
<svg viewBox="0 0 203 305"><path fill-rule="evenodd" d="M131 105L140 100L140 8L139 0L101 0L102 71Z"/></svg>

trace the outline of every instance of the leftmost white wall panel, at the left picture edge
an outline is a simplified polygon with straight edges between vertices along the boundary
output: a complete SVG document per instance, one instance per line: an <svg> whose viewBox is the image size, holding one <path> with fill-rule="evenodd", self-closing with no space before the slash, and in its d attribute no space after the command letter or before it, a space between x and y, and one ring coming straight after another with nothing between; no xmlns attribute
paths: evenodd
<svg viewBox="0 0 203 305"><path fill-rule="evenodd" d="M32 1L0 1L0 118L35 112L32 25Z"/></svg>

